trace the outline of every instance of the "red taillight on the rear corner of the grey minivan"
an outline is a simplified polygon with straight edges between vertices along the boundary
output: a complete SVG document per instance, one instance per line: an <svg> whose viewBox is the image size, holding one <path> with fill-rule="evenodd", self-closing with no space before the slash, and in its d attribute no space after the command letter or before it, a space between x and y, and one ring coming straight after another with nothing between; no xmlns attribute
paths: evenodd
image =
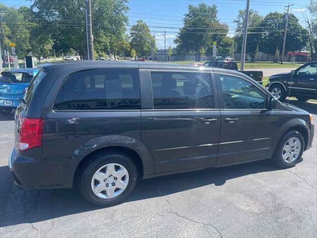
<svg viewBox="0 0 317 238"><path fill-rule="evenodd" d="M42 146L43 119L23 118L19 133L19 150Z"/></svg>

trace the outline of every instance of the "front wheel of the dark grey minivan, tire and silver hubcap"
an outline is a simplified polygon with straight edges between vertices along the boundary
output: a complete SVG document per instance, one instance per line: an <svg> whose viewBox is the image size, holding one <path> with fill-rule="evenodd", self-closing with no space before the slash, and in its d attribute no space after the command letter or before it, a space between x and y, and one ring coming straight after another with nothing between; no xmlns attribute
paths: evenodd
<svg viewBox="0 0 317 238"><path fill-rule="evenodd" d="M293 167L302 157L304 147L303 135L297 130L291 130L278 142L272 159L283 169Z"/></svg>

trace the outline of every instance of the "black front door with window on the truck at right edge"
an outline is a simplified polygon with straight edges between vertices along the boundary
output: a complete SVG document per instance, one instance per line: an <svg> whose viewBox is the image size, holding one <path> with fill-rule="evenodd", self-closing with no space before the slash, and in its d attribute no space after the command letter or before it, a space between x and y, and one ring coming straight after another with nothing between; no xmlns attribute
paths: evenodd
<svg viewBox="0 0 317 238"><path fill-rule="evenodd" d="M290 83L291 94L298 94L307 97L317 97L317 63L312 62L303 65L292 77Z"/></svg>

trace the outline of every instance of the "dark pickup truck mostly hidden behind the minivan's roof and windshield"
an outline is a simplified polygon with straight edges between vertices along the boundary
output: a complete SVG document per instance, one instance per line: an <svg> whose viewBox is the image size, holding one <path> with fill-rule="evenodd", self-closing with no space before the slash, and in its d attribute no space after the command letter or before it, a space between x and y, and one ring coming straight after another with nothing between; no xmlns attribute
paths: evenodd
<svg viewBox="0 0 317 238"><path fill-rule="evenodd" d="M256 80L258 83L262 85L263 80L263 71L244 71L244 70L238 70L237 62L235 61L228 61L228 60L214 60L214 61L206 61L204 66L209 67L216 67L216 68L225 68L225 69L232 69L239 71L241 73L244 73L248 75L249 77Z"/></svg>

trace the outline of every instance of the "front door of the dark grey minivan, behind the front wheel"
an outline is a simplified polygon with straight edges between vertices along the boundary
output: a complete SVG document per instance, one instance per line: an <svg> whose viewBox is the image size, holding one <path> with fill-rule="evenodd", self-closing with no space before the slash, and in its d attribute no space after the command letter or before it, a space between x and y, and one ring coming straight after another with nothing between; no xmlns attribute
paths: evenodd
<svg viewBox="0 0 317 238"><path fill-rule="evenodd" d="M266 110L260 86L236 75L216 74L221 114L217 164L265 158L271 150L275 113Z"/></svg>

